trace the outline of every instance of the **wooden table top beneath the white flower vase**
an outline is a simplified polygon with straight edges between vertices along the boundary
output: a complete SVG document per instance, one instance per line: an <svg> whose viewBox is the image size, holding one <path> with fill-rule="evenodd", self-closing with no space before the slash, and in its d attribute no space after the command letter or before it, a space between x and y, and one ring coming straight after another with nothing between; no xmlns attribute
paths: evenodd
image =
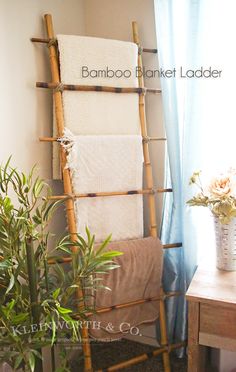
<svg viewBox="0 0 236 372"><path fill-rule="evenodd" d="M219 304L236 309L236 271L199 266L186 294L188 301Z"/></svg>

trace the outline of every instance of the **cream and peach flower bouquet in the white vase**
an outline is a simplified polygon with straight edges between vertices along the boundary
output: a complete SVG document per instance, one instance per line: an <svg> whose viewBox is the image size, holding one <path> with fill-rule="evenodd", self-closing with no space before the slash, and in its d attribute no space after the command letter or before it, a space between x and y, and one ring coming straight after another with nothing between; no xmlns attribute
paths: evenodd
<svg viewBox="0 0 236 372"><path fill-rule="evenodd" d="M236 170L230 168L226 173L212 178L206 187L201 181L201 171L194 172L189 184L196 185L198 192L187 201L190 206L208 207L222 224L236 217Z"/></svg>

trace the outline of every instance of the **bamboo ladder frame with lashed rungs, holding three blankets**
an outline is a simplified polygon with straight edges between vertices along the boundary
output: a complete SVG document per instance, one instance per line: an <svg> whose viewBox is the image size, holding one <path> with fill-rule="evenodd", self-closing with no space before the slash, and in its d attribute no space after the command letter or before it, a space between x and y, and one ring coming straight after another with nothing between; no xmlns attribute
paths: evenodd
<svg viewBox="0 0 236 372"><path fill-rule="evenodd" d="M61 76L60 76L59 56L58 56L58 41L54 37L51 15L48 15L48 14L45 15L45 24L46 24L46 31L47 31L47 39L32 38L31 40L33 42L45 43L48 46L52 81L50 83L45 83L45 82L37 83L36 86L53 90L55 119L56 119L56 125L57 125L57 136L50 137L50 138L43 137L43 138L40 138L41 141L60 143L61 138L64 135L64 130L65 130L64 114L65 113L64 113L63 99L62 99L63 92L71 92L71 93L73 92L74 95L76 94L82 95L83 92L96 92L97 94L109 94L109 95L112 94L114 96L118 96L118 95L127 96L127 95L132 94L132 95L136 95L136 98L138 98L137 103L139 106L139 121L141 125L143 159L144 159L144 168L145 168L145 179L146 179L146 185L147 185L146 189L139 188L139 186L137 186L137 189L135 190L132 189L128 191L120 189L120 190L110 190L110 191L103 191L103 190L99 191L98 190L98 192L92 192L92 193L85 191L85 190L74 192L70 169L66 167L67 153L64 147L60 146L60 162L61 162L61 171L62 171L62 178L63 178L63 185L64 185L64 194L53 196L52 199L65 200L68 228L69 228L69 232L71 234L72 240L75 240L74 233L77 231L76 211L75 211L76 206L74 203L75 199L77 200L77 199L101 198L101 197L112 198L114 196L129 197L130 195L137 196L137 197L139 197L140 195L147 196L148 207L149 207L149 222L150 222L150 234L149 235L150 237L156 238L157 237L157 226L156 226L156 211L155 211L155 194L159 192L160 193L172 192L172 190L171 189L157 189L157 188L154 188L154 185L153 185L152 167L151 167L150 157L149 157L149 142L152 140L158 141L162 139L148 137L147 128L146 128L146 114L145 114L145 94L146 93L160 93L160 89L146 89L144 87L144 81L142 77L139 77L138 85L136 86L134 84L133 87L130 87L130 86L120 87L120 86L115 86L114 84L111 86L82 85L80 81L75 81L75 83L74 81L63 81L62 83ZM142 52L156 53L157 50L142 48L140 45L140 41L139 41L137 23L133 22L132 27L133 27L133 40L134 40L134 43L138 47L138 67L142 68ZM91 40L91 42L93 41ZM70 100L70 96L68 96L67 98L68 100ZM73 97L72 100L74 99L75 98ZM173 243L173 244L164 245L163 248L170 249L170 248L176 248L176 247L181 247L181 246L182 246L181 243ZM60 258L60 260L51 260L49 263L54 264L59 261L60 263L68 263L70 262L70 258L65 256L63 258ZM124 308L138 306L140 304L144 304L145 302L159 301L159 319L160 319L160 330L161 330L160 347L154 350L152 353L142 354L128 361L124 361L122 363L108 367L106 371L117 371L122 368L126 368L136 363L145 361L146 359L150 357L154 357L160 354L162 354L163 356L165 372L169 372L171 370L170 361L169 361L169 353L174 349L184 346L185 343L184 342L179 342L176 344L168 343L164 302L167 298L176 296L179 294L180 293L178 292L164 293L163 290L161 289L160 296L158 298L149 297L149 298L136 299L136 300L128 301L126 303L116 304L115 306L108 306L106 308L102 308L102 309L100 308L97 310L96 312L97 314L108 313L116 309L124 309ZM81 297L80 293L77 293L77 295L78 297ZM84 370L87 372L92 371L93 369L92 369L91 350L90 350L90 344L89 344L89 335L88 335L88 330L86 328L82 328L82 346L83 346L83 354L84 354Z"/></svg>

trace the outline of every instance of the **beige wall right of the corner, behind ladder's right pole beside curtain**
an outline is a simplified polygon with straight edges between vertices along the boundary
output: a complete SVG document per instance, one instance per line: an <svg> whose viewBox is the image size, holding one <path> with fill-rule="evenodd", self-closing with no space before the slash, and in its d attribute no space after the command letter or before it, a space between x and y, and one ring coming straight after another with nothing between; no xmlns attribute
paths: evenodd
<svg viewBox="0 0 236 372"><path fill-rule="evenodd" d="M154 0L86 0L85 32L89 36L132 40L132 21L137 21L142 45L146 48L156 47L154 19ZM144 66L157 68L157 56L144 54ZM158 79L146 79L147 87L160 87ZM147 95L147 123L150 136L163 136L163 119L161 97ZM163 186L164 143L151 144L151 160L154 180L157 187ZM158 226L161 218L161 201L157 200ZM146 218L147 220L147 218Z"/></svg>

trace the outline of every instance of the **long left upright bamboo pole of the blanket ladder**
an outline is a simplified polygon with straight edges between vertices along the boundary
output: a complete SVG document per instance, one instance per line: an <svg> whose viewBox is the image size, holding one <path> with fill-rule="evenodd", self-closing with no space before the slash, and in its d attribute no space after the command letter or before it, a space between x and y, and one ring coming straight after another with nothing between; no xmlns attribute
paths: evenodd
<svg viewBox="0 0 236 372"><path fill-rule="evenodd" d="M54 31L53 31L53 24L52 24L52 16L50 14L46 14L44 16L47 36L49 39L54 39ZM51 44L49 46L49 58L50 58L50 65L51 65L51 73L52 73L52 82L56 85L60 84L60 73L59 73L59 62L58 62L58 54L57 48L55 44ZM54 103L55 103L55 115L56 115L56 123L57 123L57 130L58 136L61 137L64 131L64 116L63 116L63 104L62 104L62 93L60 91L54 90L53 92ZM63 175L63 184L64 184L64 192L66 194L72 193L72 184L70 179L70 171L68 168L65 167L66 165L66 153L64 149L61 147L60 150L60 158L61 158L61 169ZM72 199L66 200L66 213L67 213L67 220L68 220L68 227L69 233L71 235L71 240L76 241L76 219L75 219L75 210L74 210L74 202ZM77 247L72 248L73 251L76 251ZM82 293L79 291L77 293L77 298L81 298ZM79 304L80 307L84 307L84 303ZM86 372L92 371L92 361L91 361L91 350L89 344L89 337L88 337L88 330L86 328L81 329L82 333L82 347L84 353L84 369Z"/></svg>

